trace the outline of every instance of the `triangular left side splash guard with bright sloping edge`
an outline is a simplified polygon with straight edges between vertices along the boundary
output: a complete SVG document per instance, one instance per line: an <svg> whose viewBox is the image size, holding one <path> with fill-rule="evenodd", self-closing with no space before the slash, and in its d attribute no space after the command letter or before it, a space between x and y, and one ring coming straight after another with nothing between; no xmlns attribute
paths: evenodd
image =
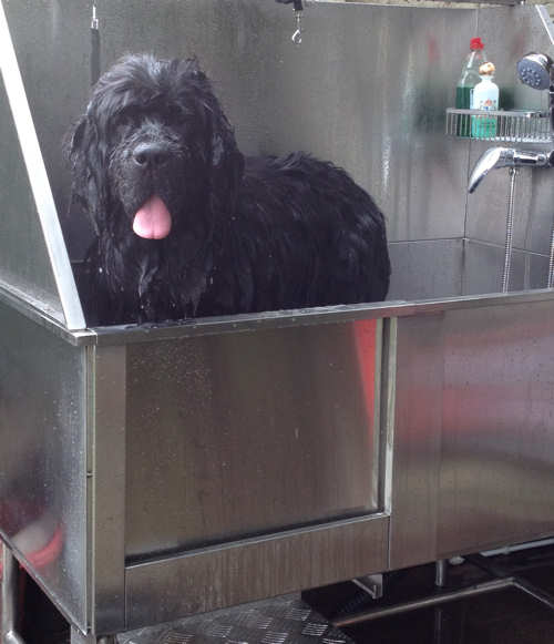
<svg viewBox="0 0 554 644"><path fill-rule="evenodd" d="M10 143L4 150L3 163L9 164L8 154L13 155L17 174L10 177L7 172L2 177L2 196L7 203L3 223L8 232L3 235L3 244L9 248L2 278L7 288L20 292L21 299L45 310L69 329L83 329L81 303L3 4L0 2L3 83L0 101ZM18 212L20 207L22 213ZM29 232L33 234L28 235Z"/></svg>

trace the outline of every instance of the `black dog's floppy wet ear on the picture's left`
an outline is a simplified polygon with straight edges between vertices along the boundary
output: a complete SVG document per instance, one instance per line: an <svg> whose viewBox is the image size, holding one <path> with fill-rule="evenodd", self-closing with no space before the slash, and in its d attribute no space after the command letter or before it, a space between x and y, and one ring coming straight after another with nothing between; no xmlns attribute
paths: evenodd
<svg viewBox="0 0 554 644"><path fill-rule="evenodd" d="M103 159L105 145L102 144L90 114L81 116L65 141L65 154L73 177L70 207L79 203L86 211L98 235L107 212L107 182Z"/></svg>

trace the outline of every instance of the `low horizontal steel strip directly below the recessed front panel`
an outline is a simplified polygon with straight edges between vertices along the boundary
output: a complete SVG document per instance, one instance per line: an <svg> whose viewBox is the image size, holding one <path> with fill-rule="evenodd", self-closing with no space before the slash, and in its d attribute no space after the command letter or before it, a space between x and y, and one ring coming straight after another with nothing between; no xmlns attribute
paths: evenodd
<svg viewBox="0 0 554 644"><path fill-rule="evenodd" d="M388 528L388 517L371 517L131 566L127 627L382 571Z"/></svg>

